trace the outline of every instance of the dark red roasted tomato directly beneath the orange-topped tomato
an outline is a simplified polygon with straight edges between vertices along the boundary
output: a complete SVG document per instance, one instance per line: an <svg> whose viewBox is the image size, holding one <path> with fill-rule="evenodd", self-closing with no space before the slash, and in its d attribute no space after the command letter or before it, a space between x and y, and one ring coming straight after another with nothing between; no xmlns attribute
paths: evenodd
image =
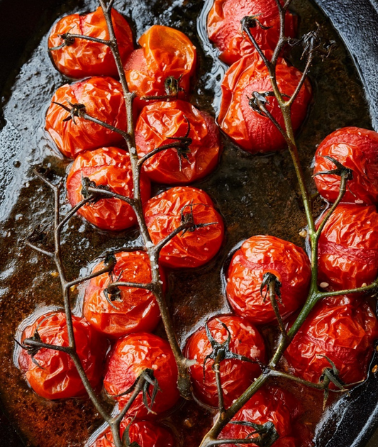
<svg viewBox="0 0 378 447"><path fill-rule="evenodd" d="M184 137L190 123L192 139L186 160L177 150L160 152L144 163L144 170L154 182L186 184L195 182L211 172L218 162L221 142L213 118L185 101L157 102L146 106L136 124L135 139L138 155L174 142L172 137Z"/></svg>

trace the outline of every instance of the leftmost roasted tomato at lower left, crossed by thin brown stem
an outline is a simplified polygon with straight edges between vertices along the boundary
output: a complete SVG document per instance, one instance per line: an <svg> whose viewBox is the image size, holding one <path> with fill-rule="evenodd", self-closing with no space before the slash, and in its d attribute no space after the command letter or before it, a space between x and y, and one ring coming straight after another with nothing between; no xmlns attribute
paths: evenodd
<svg viewBox="0 0 378 447"><path fill-rule="evenodd" d="M72 316L77 355L92 387L99 385L108 343L83 318ZM21 341L38 331L43 343L68 346L66 316L62 312L40 316L28 326ZM30 387L46 399L65 399L86 394L82 379L70 356L61 351L40 348L30 356L21 350L18 358L21 370L26 373Z"/></svg>

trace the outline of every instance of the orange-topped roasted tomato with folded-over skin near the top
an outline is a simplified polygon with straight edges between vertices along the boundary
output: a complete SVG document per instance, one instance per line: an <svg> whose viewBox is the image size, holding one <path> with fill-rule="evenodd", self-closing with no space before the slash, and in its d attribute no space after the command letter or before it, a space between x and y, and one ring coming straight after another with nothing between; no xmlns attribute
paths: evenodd
<svg viewBox="0 0 378 447"><path fill-rule="evenodd" d="M125 65L128 87L137 94L138 106L145 105L140 96L176 91L180 99L187 97L196 71L196 47L189 38L169 26L154 25L138 43L142 48L134 50Z"/></svg>

